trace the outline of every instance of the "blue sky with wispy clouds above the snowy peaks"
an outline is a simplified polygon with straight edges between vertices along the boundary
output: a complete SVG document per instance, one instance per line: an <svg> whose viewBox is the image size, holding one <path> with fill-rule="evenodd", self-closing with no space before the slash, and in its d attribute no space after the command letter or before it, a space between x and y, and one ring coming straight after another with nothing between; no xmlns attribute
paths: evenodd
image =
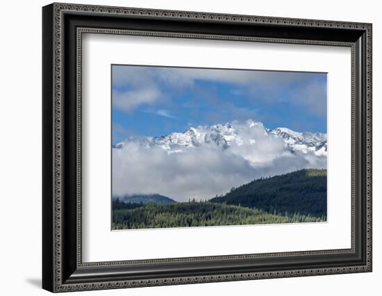
<svg viewBox="0 0 382 296"><path fill-rule="evenodd" d="M252 119L326 133L326 74L112 66L113 144Z"/></svg>

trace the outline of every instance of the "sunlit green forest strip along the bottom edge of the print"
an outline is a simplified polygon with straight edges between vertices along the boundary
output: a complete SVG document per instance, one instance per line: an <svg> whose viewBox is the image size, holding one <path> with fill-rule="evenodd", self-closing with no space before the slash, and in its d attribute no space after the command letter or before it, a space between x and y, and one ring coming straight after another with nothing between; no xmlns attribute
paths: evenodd
<svg viewBox="0 0 382 296"><path fill-rule="evenodd" d="M113 229L201 227L324 221L325 217L275 215L257 208L212 202L126 204L113 201Z"/></svg>

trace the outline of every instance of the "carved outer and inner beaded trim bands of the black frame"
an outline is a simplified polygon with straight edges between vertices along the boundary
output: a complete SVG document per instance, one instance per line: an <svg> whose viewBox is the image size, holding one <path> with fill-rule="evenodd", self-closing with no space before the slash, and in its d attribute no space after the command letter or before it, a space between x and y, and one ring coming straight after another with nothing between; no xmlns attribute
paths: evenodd
<svg viewBox="0 0 382 296"><path fill-rule="evenodd" d="M324 27L324 28L353 28L366 32L366 133L365 141L366 147L366 159L367 159L367 172L366 172L366 204L365 209L367 215L367 234L366 234L366 264L347 266L342 268L312 268L310 270L280 270L272 272L247 272L247 273L229 273L229 274L217 274L210 276L192 276L192 277L170 277L160 279L143 279L139 281L130 280L115 280L105 281L98 283L65 283L63 281L62 266L62 245L63 245L63 233L62 233L62 92L61 92L61 79L63 69L62 59L62 38L63 38L63 14L64 13L94 13L97 15L131 15L131 16L146 16L146 17L166 17L174 19L208 19L211 21L219 22L243 22L243 23L255 23L255 24L285 24L288 26L308 26L308 27ZM290 19L279 17L257 17L248 15L226 15L215 13L195 13L184 11L172 11L172 10L151 10L140 8L117 8L108 6L88 6L88 5L72 5L64 3L53 3L53 15L54 15L54 28L53 28L53 288L54 292L64 292L72 290L98 290L98 289L110 289L110 288L128 288L128 287L142 287L142 286L160 286L170 284L182 284L182 283L204 283L215 281L237 281L244 279L267 279L267 278L279 278L279 277L301 277L308 275L321 275L321 274L338 274L338 273L350 273L350 272L370 272L372 270L372 25L355 23L355 22L333 22L322 20L310 20L310 19ZM351 192L352 192L352 227L351 227L351 249L338 249L338 250L323 250L317 252L292 252L292 253L273 253L273 254L254 254L254 255L228 255L228 256L213 256L213 257L191 257L191 258L171 258L171 259L158 259L154 261L113 261L113 262L101 262L101 263L82 263L81 260L81 87L77 88L77 264L78 267L102 267L102 266L118 266L126 264L147 264L147 263L166 263L171 261L210 261L214 259L230 259L239 258L258 258L264 256L285 256L285 255L304 255L304 254L335 254L354 252L354 44L348 42L327 42L319 40L288 40L288 39L275 39L275 38L250 38L250 37L238 37L227 35L203 35L203 34L188 34L188 33L161 33L161 32L148 32L148 31L126 31L126 30L110 30L101 28L78 28L77 29L77 83L81 85L81 40L83 33L108 33L108 34L128 34L128 35L155 35L160 37L169 38L207 38L207 39L219 39L219 40L238 40L238 41L254 41L254 42L278 42L278 43L297 43L297 44L322 44L322 45L336 45L351 47L352 65L352 180L351 180ZM252 256L252 257L251 257Z"/></svg>

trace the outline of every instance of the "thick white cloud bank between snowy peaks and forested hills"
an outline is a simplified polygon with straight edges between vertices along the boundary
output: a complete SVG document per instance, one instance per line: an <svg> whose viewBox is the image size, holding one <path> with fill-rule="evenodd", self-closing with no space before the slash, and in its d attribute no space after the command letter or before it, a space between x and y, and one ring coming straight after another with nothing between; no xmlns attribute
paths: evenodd
<svg viewBox="0 0 382 296"><path fill-rule="evenodd" d="M235 126L240 128L240 126ZM240 145L204 145L167 153L131 142L113 149L113 195L158 193L177 201L209 199L262 176L326 167L326 156L287 149L283 140L251 129ZM250 140L256 139L255 145Z"/></svg>

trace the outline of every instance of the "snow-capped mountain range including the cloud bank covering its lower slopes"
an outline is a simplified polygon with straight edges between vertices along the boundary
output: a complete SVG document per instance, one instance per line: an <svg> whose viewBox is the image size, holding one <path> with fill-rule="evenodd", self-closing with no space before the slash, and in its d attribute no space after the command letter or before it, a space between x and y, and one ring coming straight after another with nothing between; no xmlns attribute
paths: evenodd
<svg viewBox="0 0 382 296"><path fill-rule="evenodd" d="M326 168L326 140L326 134L267 129L253 120L131 136L113 148L113 195L214 197L264 176Z"/></svg>

